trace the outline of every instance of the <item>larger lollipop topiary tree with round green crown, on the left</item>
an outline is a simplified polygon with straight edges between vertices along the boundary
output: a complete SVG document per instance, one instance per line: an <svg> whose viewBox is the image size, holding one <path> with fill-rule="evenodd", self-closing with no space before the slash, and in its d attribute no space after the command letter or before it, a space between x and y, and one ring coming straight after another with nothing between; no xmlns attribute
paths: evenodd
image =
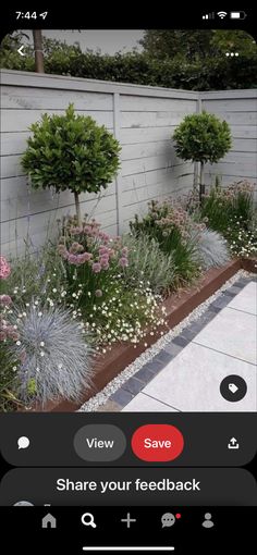
<svg viewBox="0 0 257 555"><path fill-rule="evenodd" d="M90 116L76 115L73 104L63 115L44 114L30 131L22 166L32 186L70 189L81 225L79 194L99 193L113 180L120 165L118 140Z"/></svg>

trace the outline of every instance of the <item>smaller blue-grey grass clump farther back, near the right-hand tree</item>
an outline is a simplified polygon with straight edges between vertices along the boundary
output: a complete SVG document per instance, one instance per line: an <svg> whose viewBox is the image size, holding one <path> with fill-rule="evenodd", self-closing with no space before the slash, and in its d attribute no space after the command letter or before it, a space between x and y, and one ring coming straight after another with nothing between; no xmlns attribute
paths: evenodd
<svg viewBox="0 0 257 555"><path fill-rule="evenodd" d="M231 256L225 239L217 232L203 230L196 239L196 257L205 270L225 264Z"/></svg>

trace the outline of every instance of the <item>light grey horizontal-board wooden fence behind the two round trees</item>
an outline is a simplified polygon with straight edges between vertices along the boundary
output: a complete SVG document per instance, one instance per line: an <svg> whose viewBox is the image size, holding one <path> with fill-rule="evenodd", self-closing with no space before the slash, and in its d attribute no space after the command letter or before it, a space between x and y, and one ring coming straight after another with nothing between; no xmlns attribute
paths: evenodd
<svg viewBox="0 0 257 555"><path fill-rule="evenodd" d="M225 183L256 175L256 91L204 92L164 89L16 71L1 71L1 243L2 252L35 247L56 229L56 220L74 213L73 195L30 190L20 158L28 126L45 112L63 113L70 102L77 113L106 125L122 145L117 180L99 196L82 195L84 212L110 233L125 231L147 201L192 188L195 168L178 159L171 136L187 113L206 109L232 125L233 149L207 168L206 178L222 173Z"/></svg>

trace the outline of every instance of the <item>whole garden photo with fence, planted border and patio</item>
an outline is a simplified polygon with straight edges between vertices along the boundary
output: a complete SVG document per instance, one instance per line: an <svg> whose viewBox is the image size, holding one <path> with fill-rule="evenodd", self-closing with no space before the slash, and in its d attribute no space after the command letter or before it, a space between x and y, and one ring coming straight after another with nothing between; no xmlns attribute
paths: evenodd
<svg viewBox="0 0 257 555"><path fill-rule="evenodd" d="M256 70L242 30L4 37L0 411L256 410Z"/></svg>

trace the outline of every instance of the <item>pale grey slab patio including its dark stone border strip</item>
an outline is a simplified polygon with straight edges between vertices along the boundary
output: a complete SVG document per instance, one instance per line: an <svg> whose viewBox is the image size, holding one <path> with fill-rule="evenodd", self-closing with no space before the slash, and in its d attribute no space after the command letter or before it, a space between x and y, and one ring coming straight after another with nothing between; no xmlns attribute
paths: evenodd
<svg viewBox="0 0 257 555"><path fill-rule="evenodd" d="M256 410L257 281L238 279L98 410ZM220 383L240 375L246 395L225 400Z"/></svg>

